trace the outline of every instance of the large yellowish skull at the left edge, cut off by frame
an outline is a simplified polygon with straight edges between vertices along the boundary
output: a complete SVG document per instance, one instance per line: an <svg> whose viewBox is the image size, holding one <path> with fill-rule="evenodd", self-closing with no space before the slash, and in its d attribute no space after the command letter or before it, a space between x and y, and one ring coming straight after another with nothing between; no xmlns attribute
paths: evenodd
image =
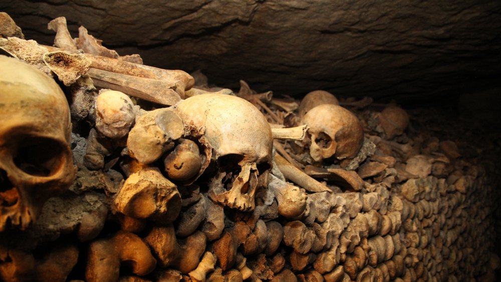
<svg viewBox="0 0 501 282"><path fill-rule="evenodd" d="M17 59L0 56L0 231L25 229L75 175L71 123L61 88Z"/></svg>

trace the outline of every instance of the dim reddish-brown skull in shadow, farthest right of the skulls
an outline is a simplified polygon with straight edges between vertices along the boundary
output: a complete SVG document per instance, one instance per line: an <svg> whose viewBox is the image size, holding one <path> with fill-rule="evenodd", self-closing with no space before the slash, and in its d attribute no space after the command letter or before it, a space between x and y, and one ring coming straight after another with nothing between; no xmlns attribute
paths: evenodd
<svg viewBox="0 0 501 282"><path fill-rule="evenodd" d="M382 127L385 138L388 140L403 134L409 125L407 112L398 106L388 106L377 116L379 125Z"/></svg>

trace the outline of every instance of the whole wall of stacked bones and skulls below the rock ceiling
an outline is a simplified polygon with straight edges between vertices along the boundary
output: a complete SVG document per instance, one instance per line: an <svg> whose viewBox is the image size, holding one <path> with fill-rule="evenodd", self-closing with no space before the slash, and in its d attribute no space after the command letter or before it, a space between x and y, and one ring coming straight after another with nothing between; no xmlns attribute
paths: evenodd
<svg viewBox="0 0 501 282"><path fill-rule="evenodd" d="M464 129L209 86L65 18L42 46L0 15L1 280L495 280L499 170Z"/></svg>

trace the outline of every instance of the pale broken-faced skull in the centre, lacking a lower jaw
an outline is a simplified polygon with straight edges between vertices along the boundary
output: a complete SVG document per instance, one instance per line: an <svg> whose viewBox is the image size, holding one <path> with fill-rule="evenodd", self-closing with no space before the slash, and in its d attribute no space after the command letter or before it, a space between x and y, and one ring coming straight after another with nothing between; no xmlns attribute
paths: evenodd
<svg viewBox="0 0 501 282"><path fill-rule="evenodd" d="M258 187L267 185L273 137L265 116L244 99L204 94L179 102L176 111L187 134L196 132L210 147L217 172L208 195L242 211L253 210ZM207 151L206 150L206 154Z"/></svg>

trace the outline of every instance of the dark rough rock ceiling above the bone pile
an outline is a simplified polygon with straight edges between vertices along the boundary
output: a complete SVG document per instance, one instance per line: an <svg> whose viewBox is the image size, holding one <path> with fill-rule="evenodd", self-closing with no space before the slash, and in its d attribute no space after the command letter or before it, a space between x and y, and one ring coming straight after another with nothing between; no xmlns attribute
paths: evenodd
<svg viewBox="0 0 501 282"><path fill-rule="evenodd" d="M65 16L74 37L83 25L121 55L234 90L245 79L276 94L412 103L498 86L501 71L498 1L7 0L0 11L27 39L52 44L47 23Z"/></svg>

